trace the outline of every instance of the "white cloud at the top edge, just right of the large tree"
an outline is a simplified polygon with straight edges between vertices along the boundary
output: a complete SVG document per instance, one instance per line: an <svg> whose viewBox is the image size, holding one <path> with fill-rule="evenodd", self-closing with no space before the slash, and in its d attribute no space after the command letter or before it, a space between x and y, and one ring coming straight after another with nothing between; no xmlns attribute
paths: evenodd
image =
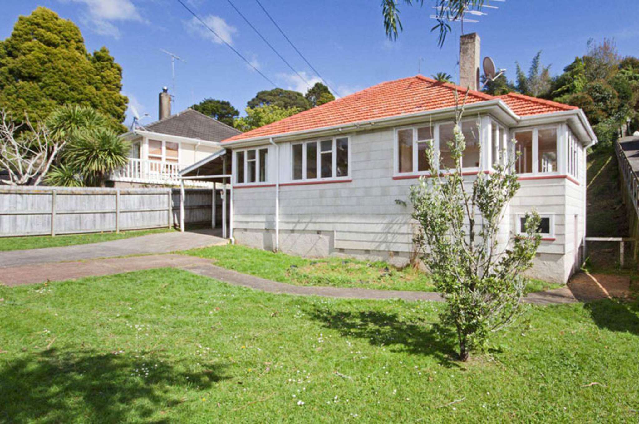
<svg viewBox="0 0 639 424"><path fill-rule="evenodd" d="M81 3L86 10L81 13L81 22L100 35L119 38L114 22L146 22L131 0L62 0Z"/></svg>

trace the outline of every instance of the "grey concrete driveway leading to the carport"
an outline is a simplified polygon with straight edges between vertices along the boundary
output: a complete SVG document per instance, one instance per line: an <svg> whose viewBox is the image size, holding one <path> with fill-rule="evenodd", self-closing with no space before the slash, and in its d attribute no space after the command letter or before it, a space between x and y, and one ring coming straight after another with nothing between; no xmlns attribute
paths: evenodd
<svg viewBox="0 0 639 424"><path fill-rule="evenodd" d="M43 249L0 252L0 272L3 267L35 265L60 261L112 258L128 255L154 255L179 250L226 244L227 240L213 235L212 230L169 232L130 237L109 242L79 244L77 246L45 247ZM72 277L73 278L73 277Z"/></svg>

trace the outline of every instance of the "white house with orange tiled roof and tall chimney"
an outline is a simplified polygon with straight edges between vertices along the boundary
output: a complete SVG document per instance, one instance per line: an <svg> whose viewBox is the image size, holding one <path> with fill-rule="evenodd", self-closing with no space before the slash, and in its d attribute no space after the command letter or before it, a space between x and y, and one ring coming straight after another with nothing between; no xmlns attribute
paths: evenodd
<svg viewBox="0 0 639 424"><path fill-rule="evenodd" d="M479 88L479 37L460 46L464 86L416 75L224 139L223 155L183 173L215 175L232 164L229 237L238 244L303 256L350 255L407 263L415 223L408 200L416 179L452 167L456 93L466 96L462 130L469 182L520 153L521 189L505 214L502 235L521 233L523 216L541 214L543 241L529 275L564 283L580 265L585 237L586 149L597 142L577 107ZM509 143L516 139L517 143ZM217 163L217 164L216 164Z"/></svg>

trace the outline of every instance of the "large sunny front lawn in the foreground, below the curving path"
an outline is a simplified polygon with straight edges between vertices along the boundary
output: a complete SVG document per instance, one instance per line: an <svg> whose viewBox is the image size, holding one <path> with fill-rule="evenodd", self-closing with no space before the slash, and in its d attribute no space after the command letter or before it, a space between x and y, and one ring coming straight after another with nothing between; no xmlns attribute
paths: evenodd
<svg viewBox="0 0 639 424"><path fill-rule="evenodd" d="M176 269L0 299L0 422L639 418L636 302L532 307L458 363L430 302L266 294Z"/></svg>

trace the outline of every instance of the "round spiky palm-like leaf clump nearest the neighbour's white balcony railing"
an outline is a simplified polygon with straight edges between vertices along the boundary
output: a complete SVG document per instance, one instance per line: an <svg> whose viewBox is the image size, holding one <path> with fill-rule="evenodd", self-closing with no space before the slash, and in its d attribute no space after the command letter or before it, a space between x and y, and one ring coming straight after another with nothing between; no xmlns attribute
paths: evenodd
<svg viewBox="0 0 639 424"><path fill-rule="evenodd" d="M88 185L103 185L104 178L128 161L130 143L111 129L79 131L63 152L66 166L82 175Z"/></svg>

